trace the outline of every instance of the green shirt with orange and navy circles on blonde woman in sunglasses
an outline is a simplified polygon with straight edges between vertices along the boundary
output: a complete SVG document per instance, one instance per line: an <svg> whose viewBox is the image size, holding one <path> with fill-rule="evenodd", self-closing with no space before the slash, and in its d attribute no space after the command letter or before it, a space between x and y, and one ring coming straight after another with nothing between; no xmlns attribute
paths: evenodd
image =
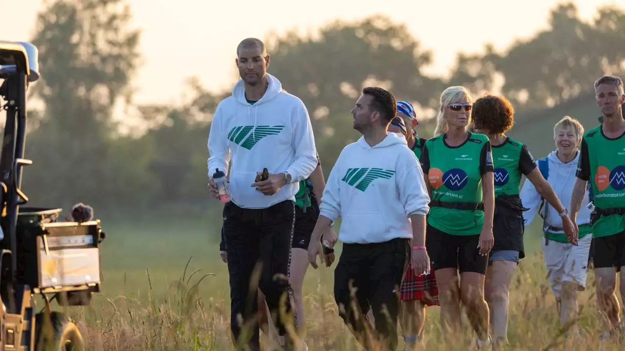
<svg viewBox="0 0 625 351"><path fill-rule="evenodd" d="M432 187L432 200L482 202L482 175L492 172L491 143L484 134L467 132L461 145L448 146L446 134L426 141L421 167ZM452 235L479 235L484 211L430 207L427 224Z"/></svg>

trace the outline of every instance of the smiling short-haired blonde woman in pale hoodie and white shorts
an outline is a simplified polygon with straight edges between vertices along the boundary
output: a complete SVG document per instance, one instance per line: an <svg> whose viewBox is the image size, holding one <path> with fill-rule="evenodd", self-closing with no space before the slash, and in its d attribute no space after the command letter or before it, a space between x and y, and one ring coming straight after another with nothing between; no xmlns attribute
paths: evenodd
<svg viewBox="0 0 625 351"><path fill-rule="evenodd" d="M543 177L556 192L558 199L562 204L569 204L577 179L579 146L584 136L584 127L577 119L566 116L556 123L553 133L556 151L552 151L544 159L539 159L537 164ZM577 318L577 291L586 289L588 256L592 240L588 190L577 215L579 228L577 245L569 242L562 230L562 219L557 214L557 210L542 198L532 182L524 182L521 189L521 201L528 209L523 212L523 218L527 221L526 226L531 224L537 213L544 220L542 250L545 265L551 291L556 298L560 322L566 325Z"/></svg>

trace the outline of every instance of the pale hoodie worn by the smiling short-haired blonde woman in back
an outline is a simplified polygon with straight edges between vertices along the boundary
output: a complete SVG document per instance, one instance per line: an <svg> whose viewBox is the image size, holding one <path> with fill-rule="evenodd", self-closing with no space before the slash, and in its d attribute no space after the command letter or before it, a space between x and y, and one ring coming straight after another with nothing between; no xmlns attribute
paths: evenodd
<svg viewBox="0 0 625 351"><path fill-rule="evenodd" d="M562 202L564 207L567 207L568 204L571 203L571 194L577 180L575 174L577 172L579 154L581 154L581 152L578 151L575 159L568 163L564 163L557 158L557 151L552 151L549 155L547 155L547 162L549 162L549 177L547 178L547 182L551 184L551 187L554 192L556 192L557 197L560 199L560 202ZM527 226L531 224L532 220L536 216L542 197L536 191L534 184L527 179L523 184L520 196L523 206L529 209L523 212L523 218L527 220L525 224ZM587 208L588 203L588 190L586 190L586 194L584 194L584 202L582 202L582 207L579 209L579 214L577 214L577 225L590 223L590 213L592 210ZM546 201L542 210L545 210L545 207L547 209L547 215L545 216L544 225L561 228L562 219L557 214L557 211ZM563 233L563 231L554 231L554 233Z"/></svg>

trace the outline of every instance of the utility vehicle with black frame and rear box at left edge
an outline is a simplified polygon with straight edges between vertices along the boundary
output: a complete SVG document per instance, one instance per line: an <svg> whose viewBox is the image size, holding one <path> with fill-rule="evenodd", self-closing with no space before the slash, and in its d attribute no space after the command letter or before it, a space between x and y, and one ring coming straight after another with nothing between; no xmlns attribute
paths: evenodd
<svg viewBox="0 0 625 351"><path fill-rule="evenodd" d="M62 209L25 207L21 190L26 145L26 92L40 77L37 48L0 41L0 107L6 112L0 151L0 347L1 350L85 350L77 325L61 310L91 304L100 292L104 232L88 205ZM43 306L36 311L36 297Z"/></svg>

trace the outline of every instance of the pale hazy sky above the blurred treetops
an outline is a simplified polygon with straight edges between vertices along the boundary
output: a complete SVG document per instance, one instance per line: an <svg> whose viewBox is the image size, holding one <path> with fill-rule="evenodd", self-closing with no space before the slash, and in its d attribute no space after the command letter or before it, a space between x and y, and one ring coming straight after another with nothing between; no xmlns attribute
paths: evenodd
<svg viewBox="0 0 625 351"><path fill-rule="evenodd" d="M36 13L46 0L1 0L0 39L28 41ZM51 1L51 0L47 0ZM244 37L264 39L269 31L314 29L334 19L355 20L374 13L404 22L422 45L434 51L426 72L445 74L457 52L481 51L487 42L504 49L515 38L530 37L547 26L557 0L316 0L215 1L127 0L133 26L143 29L144 64L134 85L136 101L178 102L184 79L197 76L212 91L230 89L236 81L236 45ZM596 7L625 0L576 0L584 19ZM298 4L299 5L296 5ZM314 4L314 6L311 6ZM186 51L181 51L184 48ZM269 52L271 54L271 52ZM271 71L269 71L271 72ZM43 75L46 72L42 72Z"/></svg>

